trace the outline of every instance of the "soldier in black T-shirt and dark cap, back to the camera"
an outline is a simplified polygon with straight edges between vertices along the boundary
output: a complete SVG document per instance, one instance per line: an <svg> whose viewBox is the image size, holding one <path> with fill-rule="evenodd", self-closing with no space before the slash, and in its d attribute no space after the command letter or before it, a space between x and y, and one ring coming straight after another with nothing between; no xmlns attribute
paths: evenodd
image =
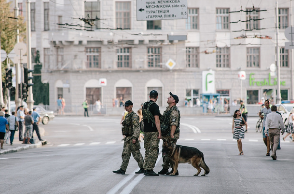
<svg viewBox="0 0 294 194"><path fill-rule="evenodd" d="M160 112L159 106L155 103L158 98L158 93L152 90L149 93L150 101L143 104L142 115L144 122L144 147L145 147L145 158L144 158L144 175L146 176L159 176L159 174L153 171L155 166L158 152L159 152L159 141L161 139L160 130Z"/></svg>

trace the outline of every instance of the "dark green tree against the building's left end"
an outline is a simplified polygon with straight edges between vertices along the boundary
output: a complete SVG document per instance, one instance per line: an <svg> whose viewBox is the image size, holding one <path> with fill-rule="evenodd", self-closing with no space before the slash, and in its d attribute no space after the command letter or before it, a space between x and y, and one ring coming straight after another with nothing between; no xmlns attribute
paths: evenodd
<svg viewBox="0 0 294 194"><path fill-rule="evenodd" d="M35 105L40 103L43 105L49 105L49 83L42 83L41 80L41 64L36 64L34 67L34 79L33 79L33 95Z"/></svg>

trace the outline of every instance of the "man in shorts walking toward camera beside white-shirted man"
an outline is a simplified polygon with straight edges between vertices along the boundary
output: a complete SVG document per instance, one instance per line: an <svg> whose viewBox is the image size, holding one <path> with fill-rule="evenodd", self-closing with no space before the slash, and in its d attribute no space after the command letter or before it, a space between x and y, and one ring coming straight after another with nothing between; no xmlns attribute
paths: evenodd
<svg viewBox="0 0 294 194"><path fill-rule="evenodd" d="M266 136L265 134L265 126L266 126L266 118L267 118L267 115L269 113L271 113L271 108L270 108L270 101L269 100L265 100L265 108L263 108L261 111L259 111L258 115L261 119L264 119L263 120L263 141L265 143L265 145L267 146L267 153L266 153L266 156L270 156L269 154L269 150L270 150L270 140L269 140L269 136ZM264 115L262 115L262 113Z"/></svg>

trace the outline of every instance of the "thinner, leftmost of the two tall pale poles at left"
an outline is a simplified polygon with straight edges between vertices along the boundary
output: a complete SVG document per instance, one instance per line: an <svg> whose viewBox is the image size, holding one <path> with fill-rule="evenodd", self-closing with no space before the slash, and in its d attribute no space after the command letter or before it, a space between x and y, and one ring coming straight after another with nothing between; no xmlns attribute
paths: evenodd
<svg viewBox="0 0 294 194"><path fill-rule="evenodd" d="M14 0L14 17L18 18L18 5L17 5L17 0ZM17 20L17 26L18 26L18 20ZM16 29L16 43L20 42L20 36L19 36L20 32L19 29ZM16 51L15 51L16 52ZM20 83L19 81L19 75L20 75L20 64L16 63L15 64L15 107L19 107L21 105L21 99L19 98L19 88L18 88L18 84Z"/></svg>

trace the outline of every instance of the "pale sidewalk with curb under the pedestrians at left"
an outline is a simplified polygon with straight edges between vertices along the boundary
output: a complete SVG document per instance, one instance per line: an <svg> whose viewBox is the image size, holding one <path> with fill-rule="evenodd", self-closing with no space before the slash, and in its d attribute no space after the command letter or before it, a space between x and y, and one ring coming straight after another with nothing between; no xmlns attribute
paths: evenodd
<svg viewBox="0 0 294 194"><path fill-rule="evenodd" d="M42 127L39 127L39 130L40 130L41 137L44 137L45 129ZM0 155L13 153L13 152L19 152L19 151L31 149L31 148L39 148L39 147L42 147L43 145L46 145L47 143L46 141L42 141L42 142L39 141L36 132L34 132L34 139L35 139L35 144L22 144L22 141L19 141L18 139L18 132L15 132L13 145L10 145L10 143L9 144L4 143L3 149L0 149Z"/></svg>

